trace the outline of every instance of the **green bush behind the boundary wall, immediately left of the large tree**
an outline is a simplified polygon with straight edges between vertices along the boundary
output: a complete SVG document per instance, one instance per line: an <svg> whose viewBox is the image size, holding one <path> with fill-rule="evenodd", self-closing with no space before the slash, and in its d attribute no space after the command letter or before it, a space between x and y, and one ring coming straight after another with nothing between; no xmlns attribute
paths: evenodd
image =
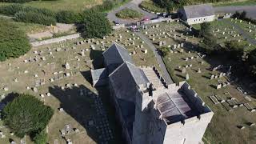
<svg viewBox="0 0 256 144"><path fill-rule="evenodd" d="M62 23L75 23L80 21L80 15L74 11L63 10L56 14L57 22Z"/></svg>

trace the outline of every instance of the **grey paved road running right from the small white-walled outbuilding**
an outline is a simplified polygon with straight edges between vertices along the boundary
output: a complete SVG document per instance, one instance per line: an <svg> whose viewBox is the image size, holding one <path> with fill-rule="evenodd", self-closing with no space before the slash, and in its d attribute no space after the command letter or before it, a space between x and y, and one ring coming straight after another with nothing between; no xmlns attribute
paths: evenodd
<svg viewBox="0 0 256 144"><path fill-rule="evenodd" d="M216 13L231 13L246 10L247 16L256 19L256 6L217 6L214 7Z"/></svg>

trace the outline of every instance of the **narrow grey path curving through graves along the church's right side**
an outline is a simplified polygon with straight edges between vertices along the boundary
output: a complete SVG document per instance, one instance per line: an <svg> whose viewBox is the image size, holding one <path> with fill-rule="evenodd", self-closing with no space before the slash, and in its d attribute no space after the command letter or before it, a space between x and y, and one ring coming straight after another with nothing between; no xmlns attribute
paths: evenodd
<svg viewBox="0 0 256 144"><path fill-rule="evenodd" d="M172 78L170 78L170 74L168 73L166 69L165 63L162 61L162 57L160 54L158 54L157 49L155 48L154 44L150 41L149 38L146 38L146 36L142 33L135 32L135 34L138 35L138 37L142 38L144 42L150 47L151 50L153 50L155 57L158 59L158 64L162 69L162 76L165 78L167 84L174 83Z"/></svg>

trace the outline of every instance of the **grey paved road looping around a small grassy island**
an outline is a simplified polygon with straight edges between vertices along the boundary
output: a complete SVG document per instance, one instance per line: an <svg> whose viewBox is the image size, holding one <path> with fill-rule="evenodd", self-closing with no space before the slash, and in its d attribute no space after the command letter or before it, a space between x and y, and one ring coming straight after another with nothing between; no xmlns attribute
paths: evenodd
<svg viewBox="0 0 256 144"><path fill-rule="evenodd" d="M130 8L130 9L133 9L133 10L137 10L138 12L142 13L144 15L144 18L157 18L157 14L151 14L145 10L142 10L141 8L138 7L138 5L142 2L142 0L133 0L129 3L126 3L126 5L124 6L120 6L118 7L117 9L115 10L111 10L108 14L107 14L107 18L109 18L110 21L114 21L114 22L118 22L118 23L123 23L123 24L130 24L130 23L133 23L133 22L137 22L135 20L128 20L128 19L121 19L121 18L117 18L115 16L115 14L124 9L124 8Z"/></svg>

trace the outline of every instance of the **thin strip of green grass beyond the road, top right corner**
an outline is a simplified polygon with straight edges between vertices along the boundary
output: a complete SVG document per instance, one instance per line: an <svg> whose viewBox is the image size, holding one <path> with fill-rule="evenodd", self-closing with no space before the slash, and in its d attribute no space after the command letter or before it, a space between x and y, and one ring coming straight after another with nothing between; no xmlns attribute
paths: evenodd
<svg viewBox="0 0 256 144"><path fill-rule="evenodd" d="M218 2L214 3L214 6L255 6L255 0L240 0L237 2Z"/></svg>

